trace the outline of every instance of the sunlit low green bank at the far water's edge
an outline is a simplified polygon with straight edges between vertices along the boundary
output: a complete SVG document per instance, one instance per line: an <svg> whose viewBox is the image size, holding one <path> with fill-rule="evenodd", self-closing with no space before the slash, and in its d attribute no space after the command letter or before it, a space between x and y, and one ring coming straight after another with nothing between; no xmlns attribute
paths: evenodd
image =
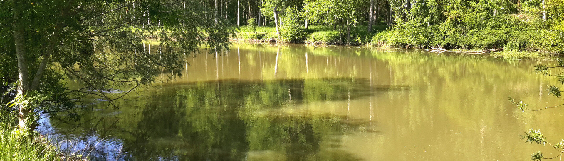
<svg viewBox="0 0 564 161"><path fill-rule="evenodd" d="M250 26L240 26L237 29L235 37L231 38L233 42L239 43L303 43L307 45L350 45L350 46L366 46L366 47L378 47L378 48L415 48L425 50L421 46L415 45L403 45L407 44L407 41L399 41L398 39L390 39L393 34L390 34L389 30L386 30L386 25L375 26L373 32L367 32L366 26L358 26L354 29L354 35L352 36L354 42L347 44L343 42L343 37L339 36L340 32L336 29L332 29L327 26L310 26L309 29L304 30L306 33L306 38L299 42L284 42L276 34L276 28L273 26L258 26L256 27L256 33L254 29ZM388 37L388 38L384 38ZM507 50L509 48L509 50ZM496 52L473 52L474 54L491 55L495 57L506 57L511 59L554 59L556 56L561 54L557 52L547 52L547 51L528 51L520 50L519 48L510 48L509 46L504 46L504 50ZM460 52L460 51L482 51L484 48L453 48L446 50L446 52Z"/></svg>

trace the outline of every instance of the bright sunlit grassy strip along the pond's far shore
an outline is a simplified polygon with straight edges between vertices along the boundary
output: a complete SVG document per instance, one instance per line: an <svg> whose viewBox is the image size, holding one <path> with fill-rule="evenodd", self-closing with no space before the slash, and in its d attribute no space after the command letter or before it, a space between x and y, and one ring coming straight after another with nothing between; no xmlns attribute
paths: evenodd
<svg viewBox="0 0 564 161"><path fill-rule="evenodd" d="M399 29L387 29L386 25L375 25L372 32L367 32L367 26L356 26L351 32L350 45L363 45L370 47L384 47L384 48L429 48L429 42L417 43L421 39L431 39L423 37L424 34L408 35L409 31L402 31ZM276 34L274 26L257 26L256 31L250 26L240 26L237 29L239 33L233 40L240 42L281 42ZM346 35L341 35L336 29L330 26L310 26L308 29L303 30L306 34L301 42L305 44L332 44L332 45L346 45ZM346 33L345 33L346 34ZM490 38L490 40L482 40L473 38L477 41L469 42L468 47L457 46L457 48L448 48L449 50L462 50L462 51L479 51L491 48L504 48L505 51L486 53L492 56L509 57L518 59L547 59L554 55L559 55L558 52L549 52L537 50L533 47L527 47L522 43L516 41L503 40L506 37ZM492 40L493 39L493 40ZM514 39L514 38L510 38ZM493 45L493 42L498 42ZM505 43L499 43L505 42ZM296 43L296 42L293 42ZM532 44L532 43L529 43ZM482 45L482 47L479 47Z"/></svg>

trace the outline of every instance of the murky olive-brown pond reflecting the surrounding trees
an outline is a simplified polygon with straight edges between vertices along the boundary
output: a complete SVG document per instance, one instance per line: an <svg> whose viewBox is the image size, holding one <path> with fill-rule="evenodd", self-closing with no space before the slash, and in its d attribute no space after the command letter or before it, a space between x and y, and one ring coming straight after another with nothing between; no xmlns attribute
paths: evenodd
<svg viewBox="0 0 564 161"><path fill-rule="evenodd" d="M154 47L153 47L154 48ZM216 57L217 56L217 57ZM300 44L233 44L135 100L39 131L91 160L530 160L564 138L547 61ZM140 99L142 98L142 99ZM552 154L552 155L551 155Z"/></svg>

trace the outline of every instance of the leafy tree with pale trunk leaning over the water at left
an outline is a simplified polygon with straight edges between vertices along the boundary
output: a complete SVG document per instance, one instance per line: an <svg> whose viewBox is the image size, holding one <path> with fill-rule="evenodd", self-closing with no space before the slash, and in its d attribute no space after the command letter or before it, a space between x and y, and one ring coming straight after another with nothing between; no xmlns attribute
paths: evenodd
<svg viewBox="0 0 564 161"><path fill-rule="evenodd" d="M184 1L0 2L0 57L16 58L0 62L1 84L17 91L10 108L19 112L19 127L34 129L38 111L73 109L86 96L114 101L166 81L158 80L162 73L180 76L183 57L202 45L226 49L233 31L217 14L202 14L204 1ZM147 51L144 42L156 40L164 47ZM66 80L83 88L65 87ZM112 87L130 88L118 94Z"/></svg>

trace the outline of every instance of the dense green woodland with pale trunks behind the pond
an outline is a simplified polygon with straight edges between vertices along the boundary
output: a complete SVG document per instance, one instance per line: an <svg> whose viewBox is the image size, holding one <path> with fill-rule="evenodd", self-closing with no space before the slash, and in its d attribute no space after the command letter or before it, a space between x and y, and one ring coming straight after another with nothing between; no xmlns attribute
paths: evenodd
<svg viewBox="0 0 564 161"><path fill-rule="evenodd" d="M248 25L246 20L255 18L257 26L276 27L258 35L243 30L243 39L564 51L562 0L208 1L215 3L221 19L231 24Z"/></svg>

